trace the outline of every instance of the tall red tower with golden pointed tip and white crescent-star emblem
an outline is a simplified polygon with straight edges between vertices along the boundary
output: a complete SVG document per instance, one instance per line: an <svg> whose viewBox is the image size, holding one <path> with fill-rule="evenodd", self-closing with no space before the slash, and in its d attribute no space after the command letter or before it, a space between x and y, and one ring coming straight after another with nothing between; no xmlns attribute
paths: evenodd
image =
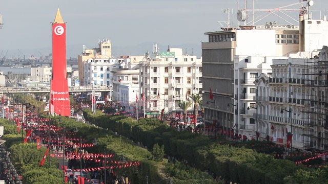
<svg viewBox="0 0 328 184"><path fill-rule="evenodd" d="M52 23L52 79L49 109L52 114L71 115L66 73L66 24L59 8Z"/></svg>

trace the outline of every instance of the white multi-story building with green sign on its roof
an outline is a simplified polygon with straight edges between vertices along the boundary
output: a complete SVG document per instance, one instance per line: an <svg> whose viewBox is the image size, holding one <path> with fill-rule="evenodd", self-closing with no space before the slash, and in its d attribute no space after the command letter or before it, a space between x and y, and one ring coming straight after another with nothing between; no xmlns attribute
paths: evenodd
<svg viewBox="0 0 328 184"><path fill-rule="evenodd" d="M157 53L156 45L153 54L153 59L146 57L139 64L139 91L145 94L145 114L153 116L162 109L177 111L178 101L188 100L188 95L202 94L201 58L183 54L179 48Z"/></svg>

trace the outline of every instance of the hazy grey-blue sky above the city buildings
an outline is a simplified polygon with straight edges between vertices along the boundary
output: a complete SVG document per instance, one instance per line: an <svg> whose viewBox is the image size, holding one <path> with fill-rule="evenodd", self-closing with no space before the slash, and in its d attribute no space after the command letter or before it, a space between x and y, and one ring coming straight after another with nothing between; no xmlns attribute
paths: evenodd
<svg viewBox="0 0 328 184"><path fill-rule="evenodd" d="M160 51L179 47L188 54L201 55L206 32L219 31L223 21L237 27L236 14L245 0L10 0L0 1L3 28L0 29L0 58L35 57L51 53L51 22L59 8L66 22L67 57L77 58L83 45L92 49L99 39L110 39L114 57L143 55L157 43ZM301 0L303 1L303 0ZM314 0L313 18L326 14L327 0ZM257 0L254 9L273 9L299 0ZM248 0L248 9L252 1ZM239 7L239 8L238 8ZM265 13L265 12L264 12ZM288 12L287 12L288 13ZM251 13L252 14L252 13ZM298 19L298 11L289 12ZM254 17L263 15L256 11ZM282 14L279 16L286 17ZM269 17L268 17L269 18ZM250 18L252 19L252 18ZM271 20L272 19L272 20ZM277 20L277 16L265 21ZM264 22L264 23L263 23ZM289 21L296 24L295 21ZM225 26L225 25L224 25Z"/></svg>

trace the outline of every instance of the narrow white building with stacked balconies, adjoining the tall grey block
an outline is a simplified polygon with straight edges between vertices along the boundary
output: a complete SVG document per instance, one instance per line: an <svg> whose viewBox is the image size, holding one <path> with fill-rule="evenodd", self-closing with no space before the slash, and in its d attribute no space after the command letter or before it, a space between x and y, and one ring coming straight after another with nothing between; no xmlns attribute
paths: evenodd
<svg viewBox="0 0 328 184"><path fill-rule="evenodd" d="M235 56L234 58L234 93L235 103L238 106L239 133L248 137L256 137L256 86L254 81L260 74L272 75L272 60L286 57L266 57L266 56ZM228 127L228 122L223 122L224 127ZM236 132L236 131L235 131Z"/></svg>

